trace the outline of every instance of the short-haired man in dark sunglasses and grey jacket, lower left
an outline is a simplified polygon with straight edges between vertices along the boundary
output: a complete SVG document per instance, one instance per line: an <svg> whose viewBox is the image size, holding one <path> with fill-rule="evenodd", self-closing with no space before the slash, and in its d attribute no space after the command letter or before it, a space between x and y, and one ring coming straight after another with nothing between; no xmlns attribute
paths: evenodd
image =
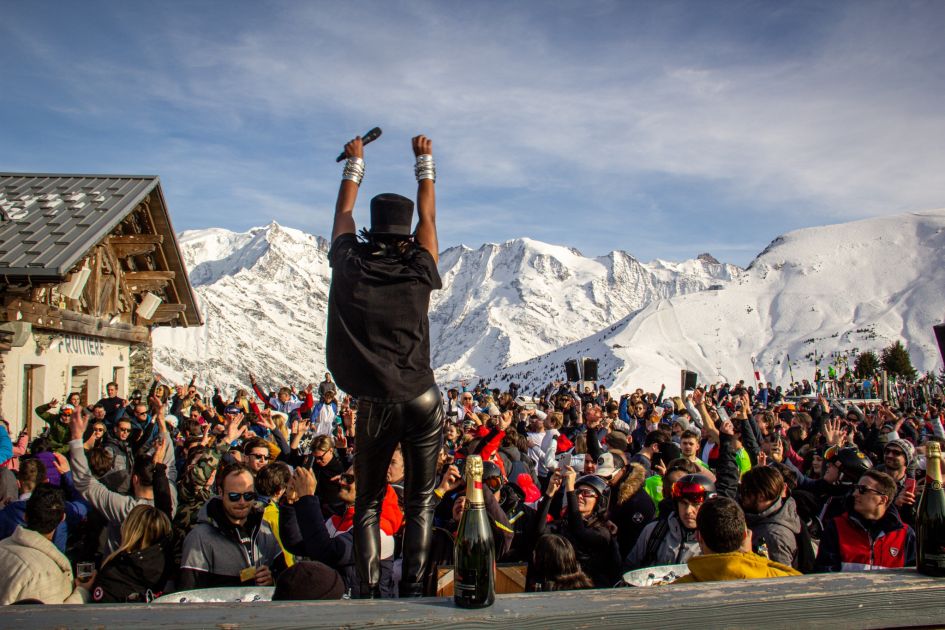
<svg viewBox="0 0 945 630"><path fill-rule="evenodd" d="M285 557L257 504L252 470L239 463L224 467L217 489L184 539L178 589L272 586Z"/></svg>

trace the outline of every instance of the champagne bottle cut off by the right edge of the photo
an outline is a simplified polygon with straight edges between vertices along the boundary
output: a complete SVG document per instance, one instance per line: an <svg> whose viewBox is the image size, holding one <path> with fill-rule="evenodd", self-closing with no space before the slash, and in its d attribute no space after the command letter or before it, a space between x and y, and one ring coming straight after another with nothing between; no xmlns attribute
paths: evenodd
<svg viewBox="0 0 945 630"><path fill-rule="evenodd" d="M925 490L915 515L919 573L945 577L945 490L942 489L942 450L938 442L925 445Z"/></svg>

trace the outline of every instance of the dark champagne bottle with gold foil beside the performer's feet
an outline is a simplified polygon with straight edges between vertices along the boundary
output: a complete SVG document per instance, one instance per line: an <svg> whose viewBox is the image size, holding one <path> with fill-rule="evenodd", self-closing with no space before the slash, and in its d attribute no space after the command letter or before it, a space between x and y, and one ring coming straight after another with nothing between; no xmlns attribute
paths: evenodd
<svg viewBox="0 0 945 630"><path fill-rule="evenodd" d="M456 531L453 576L453 601L460 608L485 608L495 601L495 546L478 455L466 459L466 509Z"/></svg>

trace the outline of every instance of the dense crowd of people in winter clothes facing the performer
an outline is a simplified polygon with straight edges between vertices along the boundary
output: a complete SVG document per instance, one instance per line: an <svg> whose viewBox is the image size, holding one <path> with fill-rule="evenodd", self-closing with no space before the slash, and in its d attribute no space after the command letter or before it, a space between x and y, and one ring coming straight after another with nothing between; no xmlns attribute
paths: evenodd
<svg viewBox="0 0 945 630"><path fill-rule="evenodd" d="M0 422L0 603L147 602L219 586L274 599L361 597L353 524L361 405L331 375L296 390L202 396L197 378ZM792 388L793 389L793 388ZM453 559L464 462L484 460L497 561L526 590L915 565L925 447L945 444L940 386L894 403L719 383L668 396L548 384L443 392L423 594ZM209 392L208 392L209 394ZM380 591L398 593L410 458L387 470ZM932 460L937 461L937 460Z"/></svg>

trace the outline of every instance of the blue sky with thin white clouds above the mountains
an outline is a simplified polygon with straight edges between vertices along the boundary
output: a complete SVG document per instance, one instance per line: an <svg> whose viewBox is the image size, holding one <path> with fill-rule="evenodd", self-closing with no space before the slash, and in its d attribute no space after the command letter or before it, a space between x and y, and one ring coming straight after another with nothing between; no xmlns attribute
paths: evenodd
<svg viewBox="0 0 945 630"><path fill-rule="evenodd" d="M328 235L437 155L440 243L747 264L945 206L945 2L0 4L0 170L160 175L178 230Z"/></svg>

